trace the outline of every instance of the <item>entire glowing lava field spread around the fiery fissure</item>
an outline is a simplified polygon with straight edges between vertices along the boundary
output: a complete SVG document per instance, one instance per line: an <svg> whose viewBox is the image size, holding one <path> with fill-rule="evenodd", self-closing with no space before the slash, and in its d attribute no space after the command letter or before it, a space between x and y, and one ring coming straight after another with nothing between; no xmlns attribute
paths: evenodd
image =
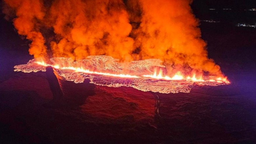
<svg viewBox="0 0 256 144"><path fill-rule="evenodd" d="M118 63L109 56L90 56L89 59L74 62L70 58L52 58L53 64L30 60L28 64L16 65L14 71L37 72L46 71L51 66L56 71L58 79L83 82L89 79L96 85L109 87L134 87L142 91L160 93L190 92L194 83L197 85L218 86L229 84L226 77L185 76L177 72L172 77L165 76L160 61L149 59L131 63ZM156 71L160 69L159 72ZM153 72L151 71L153 70ZM147 75L145 75L147 74Z"/></svg>

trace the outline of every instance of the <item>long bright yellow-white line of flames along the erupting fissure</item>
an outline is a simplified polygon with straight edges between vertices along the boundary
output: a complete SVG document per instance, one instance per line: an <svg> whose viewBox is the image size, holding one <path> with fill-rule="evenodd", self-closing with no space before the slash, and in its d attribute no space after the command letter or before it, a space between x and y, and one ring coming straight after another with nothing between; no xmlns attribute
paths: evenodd
<svg viewBox="0 0 256 144"><path fill-rule="evenodd" d="M157 73L157 70L155 70L153 75L142 75L142 76L136 76L136 75L129 75L129 74L111 74L111 73L104 73L104 72L96 72L96 71L90 71L88 69L84 69L82 67L73 67L73 66L68 66L68 67L61 67L60 65L51 65L47 64L45 62L35 62L39 65L43 66L51 66L55 69L67 69L67 70L73 70L75 72L82 72L82 73L87 73L87 74L97 74L97 75L104 75L104 76L112 76L112 77L120 77L120 78L152 78L152 79L159 79L159 80L167 80L167 81L195 81L195 82L200 82L200 81L209 81L209 82L218 82L218 83L230 83L226 77L221 78L218 77L215 80L214 79L209 79L209 80L203 80L202 75L200 77L197 77L196 74L193 74L192 77L187 76L186 78L184 75L178 71L173 77L169 76L164 76L162 70L159 70L159 73Z"/></svg>

